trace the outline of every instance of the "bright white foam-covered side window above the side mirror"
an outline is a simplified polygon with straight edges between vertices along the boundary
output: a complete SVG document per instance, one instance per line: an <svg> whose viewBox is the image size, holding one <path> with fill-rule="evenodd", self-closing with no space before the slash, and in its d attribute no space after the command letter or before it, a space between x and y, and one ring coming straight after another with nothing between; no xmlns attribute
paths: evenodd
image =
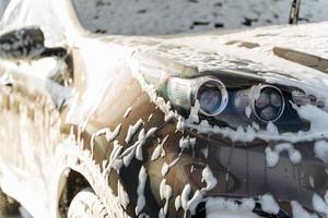
<svg viewBox="0 0 328 218"><path fill-rule="evenodd" d="M11 0L1 19L0 32L23 26L38 26L45 34L46 45L62 44L65 32L58 22L52 3L54 1L48 0Z"/></svg>

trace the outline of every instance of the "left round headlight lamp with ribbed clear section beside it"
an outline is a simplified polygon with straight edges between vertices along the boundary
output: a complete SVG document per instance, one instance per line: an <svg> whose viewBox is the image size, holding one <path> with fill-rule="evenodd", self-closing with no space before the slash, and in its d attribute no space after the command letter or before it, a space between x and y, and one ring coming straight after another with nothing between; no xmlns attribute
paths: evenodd
<svg viewBox="0 0 328 218"><path fill-rule="evenodd" d="M175 106L190 109L199 101L202 114L214 117L226 107L229 95L224 84L213 77L177 78L167 83L167 97Z"/></svg>

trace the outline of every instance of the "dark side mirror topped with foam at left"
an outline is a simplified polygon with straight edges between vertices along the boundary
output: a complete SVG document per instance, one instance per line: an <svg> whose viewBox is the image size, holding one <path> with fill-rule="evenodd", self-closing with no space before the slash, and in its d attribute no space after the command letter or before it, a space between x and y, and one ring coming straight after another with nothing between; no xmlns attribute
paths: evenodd
<svg viewBox="0 0 328 218"><path fill-rule="evenodd" d="M45 57L62 58L65 48L45 47L45 36L38 27L24 27L0 35L0 58L9 60L35 60Z"/></svg>

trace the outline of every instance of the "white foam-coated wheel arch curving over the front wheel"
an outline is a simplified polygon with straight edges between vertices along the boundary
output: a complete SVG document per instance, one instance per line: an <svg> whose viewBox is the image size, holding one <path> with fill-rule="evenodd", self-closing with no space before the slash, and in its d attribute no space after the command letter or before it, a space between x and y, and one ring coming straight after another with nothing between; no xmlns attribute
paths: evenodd
<svg viewBox="0 0 328 218"><path fill-rule="evenodd" d="M57 217L60 216L60 204L66 187L75 185L75 192L89 186L106 206L113 217L129 217L122 209L113 190L109 187L108 173L104 172L103 166L93 159L89 149L83 149L79 143L69 143L57 150L57 162L60 166L56 181ZM73 195L71 195L73 197Z"/></svg>

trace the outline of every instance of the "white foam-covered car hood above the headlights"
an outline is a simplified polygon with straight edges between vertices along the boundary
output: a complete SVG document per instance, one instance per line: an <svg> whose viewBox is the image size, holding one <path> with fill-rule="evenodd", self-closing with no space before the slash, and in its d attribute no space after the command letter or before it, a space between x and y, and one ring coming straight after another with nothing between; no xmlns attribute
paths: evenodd
<svg viewBox="0 0 328 218"><path fill-rule="evenodd" d="M242 73L268 83L301 84L308 93L328 98L325 96L328 93L328 22L233 33L103 39L133 48L147 59L180 63L197 73L229 71L232 75Z"/></svg>

